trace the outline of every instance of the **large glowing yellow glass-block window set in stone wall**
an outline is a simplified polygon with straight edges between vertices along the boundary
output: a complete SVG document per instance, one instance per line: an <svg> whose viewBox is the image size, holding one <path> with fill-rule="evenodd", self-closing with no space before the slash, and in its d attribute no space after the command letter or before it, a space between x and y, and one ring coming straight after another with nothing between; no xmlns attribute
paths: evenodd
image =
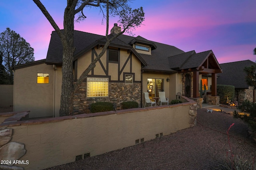
<svg viewBox="0 0 256 170"><path fill-rule="evenodd" d="M108 96L108 78L88 77L87 97Z"/></svg>

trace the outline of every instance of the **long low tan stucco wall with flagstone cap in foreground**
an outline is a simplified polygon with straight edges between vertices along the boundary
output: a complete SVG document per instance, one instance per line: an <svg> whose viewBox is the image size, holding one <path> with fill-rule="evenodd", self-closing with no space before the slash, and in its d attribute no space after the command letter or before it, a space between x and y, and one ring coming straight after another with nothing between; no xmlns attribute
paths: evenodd
<svg viewBox="0 0 256 170"><path fill-rule="evenodd" d="M189 99L187 99L189 100ZM189 100L191 101L191 100ZM76 116L10 122L12 141L25 144L25 169L43 169L68 162L76 156L95 156L194 126L195 102L171 106L134 108ZM192 116L193 117L193 116Z"/></svg>

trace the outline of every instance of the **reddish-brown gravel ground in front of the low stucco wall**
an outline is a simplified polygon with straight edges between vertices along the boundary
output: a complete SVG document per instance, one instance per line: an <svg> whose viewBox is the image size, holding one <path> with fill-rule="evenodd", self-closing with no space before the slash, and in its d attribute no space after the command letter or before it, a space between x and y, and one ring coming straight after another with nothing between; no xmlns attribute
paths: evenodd
<svg viewBox="0 0 256 170"><path fill-rule="evenodd" d="M197 125L158 139L87 157L48 170L208 170L235 156L250 162L256 156L256 143L249 138L248 126L232 115L198 109ZM227 156L228 155L228 156Z"/></svg>

